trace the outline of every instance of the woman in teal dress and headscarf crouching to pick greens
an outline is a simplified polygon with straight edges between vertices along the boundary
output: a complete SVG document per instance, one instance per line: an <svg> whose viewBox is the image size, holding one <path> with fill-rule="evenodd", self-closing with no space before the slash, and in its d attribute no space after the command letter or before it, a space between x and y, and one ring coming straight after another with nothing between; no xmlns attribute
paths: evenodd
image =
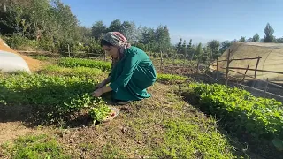
<svg viewBox="0 0 283 159"><path fill-rule="evenodd" d="M112 57L111 73L93 95L99 97L111 91L113 102L119 105L149 98L146 88L154 84L157 72L148 55L127 43L119 32L104 34L101 46Z"/></svg>

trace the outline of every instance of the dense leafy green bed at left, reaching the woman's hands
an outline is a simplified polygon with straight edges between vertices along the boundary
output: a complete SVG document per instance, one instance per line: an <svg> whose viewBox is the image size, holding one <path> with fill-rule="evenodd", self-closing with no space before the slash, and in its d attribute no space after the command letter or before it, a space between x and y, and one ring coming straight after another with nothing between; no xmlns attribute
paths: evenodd
<svg viewBox="0 0 283 159"><path fill-rule="evenodd" d="M34 116L44 119L68 117L93 102L96 82L78 77L47 75L0 76L0 104L32 106Z"/></svg>

